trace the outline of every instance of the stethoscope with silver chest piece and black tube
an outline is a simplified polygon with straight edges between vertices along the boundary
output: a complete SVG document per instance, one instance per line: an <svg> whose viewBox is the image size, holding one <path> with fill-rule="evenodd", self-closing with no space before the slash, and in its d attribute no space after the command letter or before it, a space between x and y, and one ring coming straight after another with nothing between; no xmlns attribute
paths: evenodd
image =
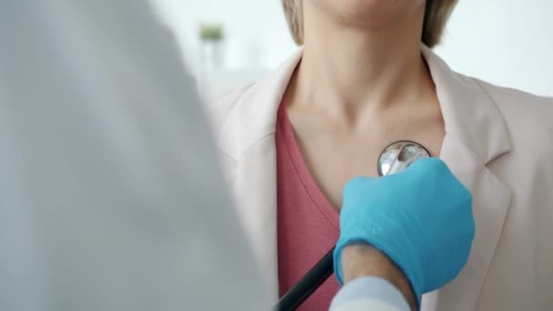
<svg viewBox="0 0 553 311"><path fill-rule="evenodd" d="M409 140L397 141L387 145L378 156L378 176L383 177L399 173L417 160L427 157L430 157L430 153L424 145ZM334 247L328 251L327 255L323 256L317 265L307 272L306 276L297 282L296 286L292 287L285 296L278 300L276 306L278 311L295 310L334 273L333 253Z"/></svg>

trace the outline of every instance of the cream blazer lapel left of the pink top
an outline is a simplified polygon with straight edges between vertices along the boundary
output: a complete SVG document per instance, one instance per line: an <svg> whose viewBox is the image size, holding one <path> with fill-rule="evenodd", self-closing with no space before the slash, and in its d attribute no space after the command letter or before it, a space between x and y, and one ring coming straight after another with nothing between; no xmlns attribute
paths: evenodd
<svg viewBox="0 0 553 311"><path fill-rule="evenodd" d="M249 86L221 128L220 145L237 209L267 288L278 298L277 273L277 109L301 59L301 50L277 72Z"/></svg>

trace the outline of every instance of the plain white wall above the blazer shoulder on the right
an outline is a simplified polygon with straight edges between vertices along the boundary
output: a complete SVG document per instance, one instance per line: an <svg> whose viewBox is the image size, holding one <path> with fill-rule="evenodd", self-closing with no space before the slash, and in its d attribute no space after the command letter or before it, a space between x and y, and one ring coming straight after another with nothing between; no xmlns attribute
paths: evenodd
<svg viewBox="0 0 553 311"><path fill-rule="evenodd" d="M455 70L553 96L553 1L459 0L439 55Z"/></svg>

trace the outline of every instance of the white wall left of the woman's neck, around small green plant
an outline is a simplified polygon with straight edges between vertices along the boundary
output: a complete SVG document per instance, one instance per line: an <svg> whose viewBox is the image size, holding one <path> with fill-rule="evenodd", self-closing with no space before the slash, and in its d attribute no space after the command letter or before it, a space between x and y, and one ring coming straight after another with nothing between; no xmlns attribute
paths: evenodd
<svg viewBox="0 0 553 311"><path fill-rule="evenodd" d="M222 24L226 68L271 68L294 50L279 0L154 0L185 46L188 65L199 58L198 25Z"/></svg>

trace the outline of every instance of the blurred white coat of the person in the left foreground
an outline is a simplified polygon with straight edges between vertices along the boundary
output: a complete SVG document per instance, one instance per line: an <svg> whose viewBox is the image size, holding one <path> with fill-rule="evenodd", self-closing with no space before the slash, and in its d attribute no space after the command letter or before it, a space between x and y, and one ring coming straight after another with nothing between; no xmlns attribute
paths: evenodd
<svg viewBox="0 0 553 311"><path fill-rule="evenodd" d="M0 309L267 309L176 49L139 0L0 9Z"/></svg>

